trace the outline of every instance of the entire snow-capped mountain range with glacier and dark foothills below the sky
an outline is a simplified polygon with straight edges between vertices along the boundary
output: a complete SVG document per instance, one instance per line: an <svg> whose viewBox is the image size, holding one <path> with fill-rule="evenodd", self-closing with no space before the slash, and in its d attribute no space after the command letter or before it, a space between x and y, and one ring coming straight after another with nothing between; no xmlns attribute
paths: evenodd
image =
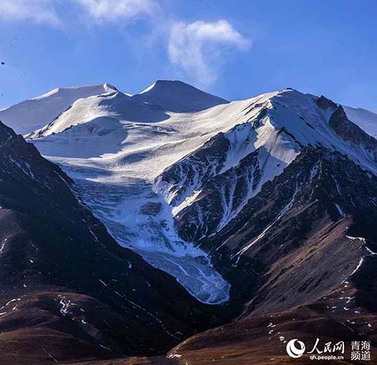
<svg viewBox="0 0 377 365"><path fill-rule="evenodd" d="M0 119L8 363L281 364L319 337L374 354L377 114L156 81Z"/></svg>

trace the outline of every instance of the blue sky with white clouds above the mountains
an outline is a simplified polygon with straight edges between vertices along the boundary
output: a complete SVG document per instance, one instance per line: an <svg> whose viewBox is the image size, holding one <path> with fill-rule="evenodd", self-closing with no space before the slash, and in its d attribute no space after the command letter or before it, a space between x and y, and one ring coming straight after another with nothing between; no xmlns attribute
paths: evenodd
<svg viewBox="0 0 377 365"><path fill-rule="evenodd" d="M374 0L1 0L0 108L58 86L292 87L377 112Z"/></svg>

